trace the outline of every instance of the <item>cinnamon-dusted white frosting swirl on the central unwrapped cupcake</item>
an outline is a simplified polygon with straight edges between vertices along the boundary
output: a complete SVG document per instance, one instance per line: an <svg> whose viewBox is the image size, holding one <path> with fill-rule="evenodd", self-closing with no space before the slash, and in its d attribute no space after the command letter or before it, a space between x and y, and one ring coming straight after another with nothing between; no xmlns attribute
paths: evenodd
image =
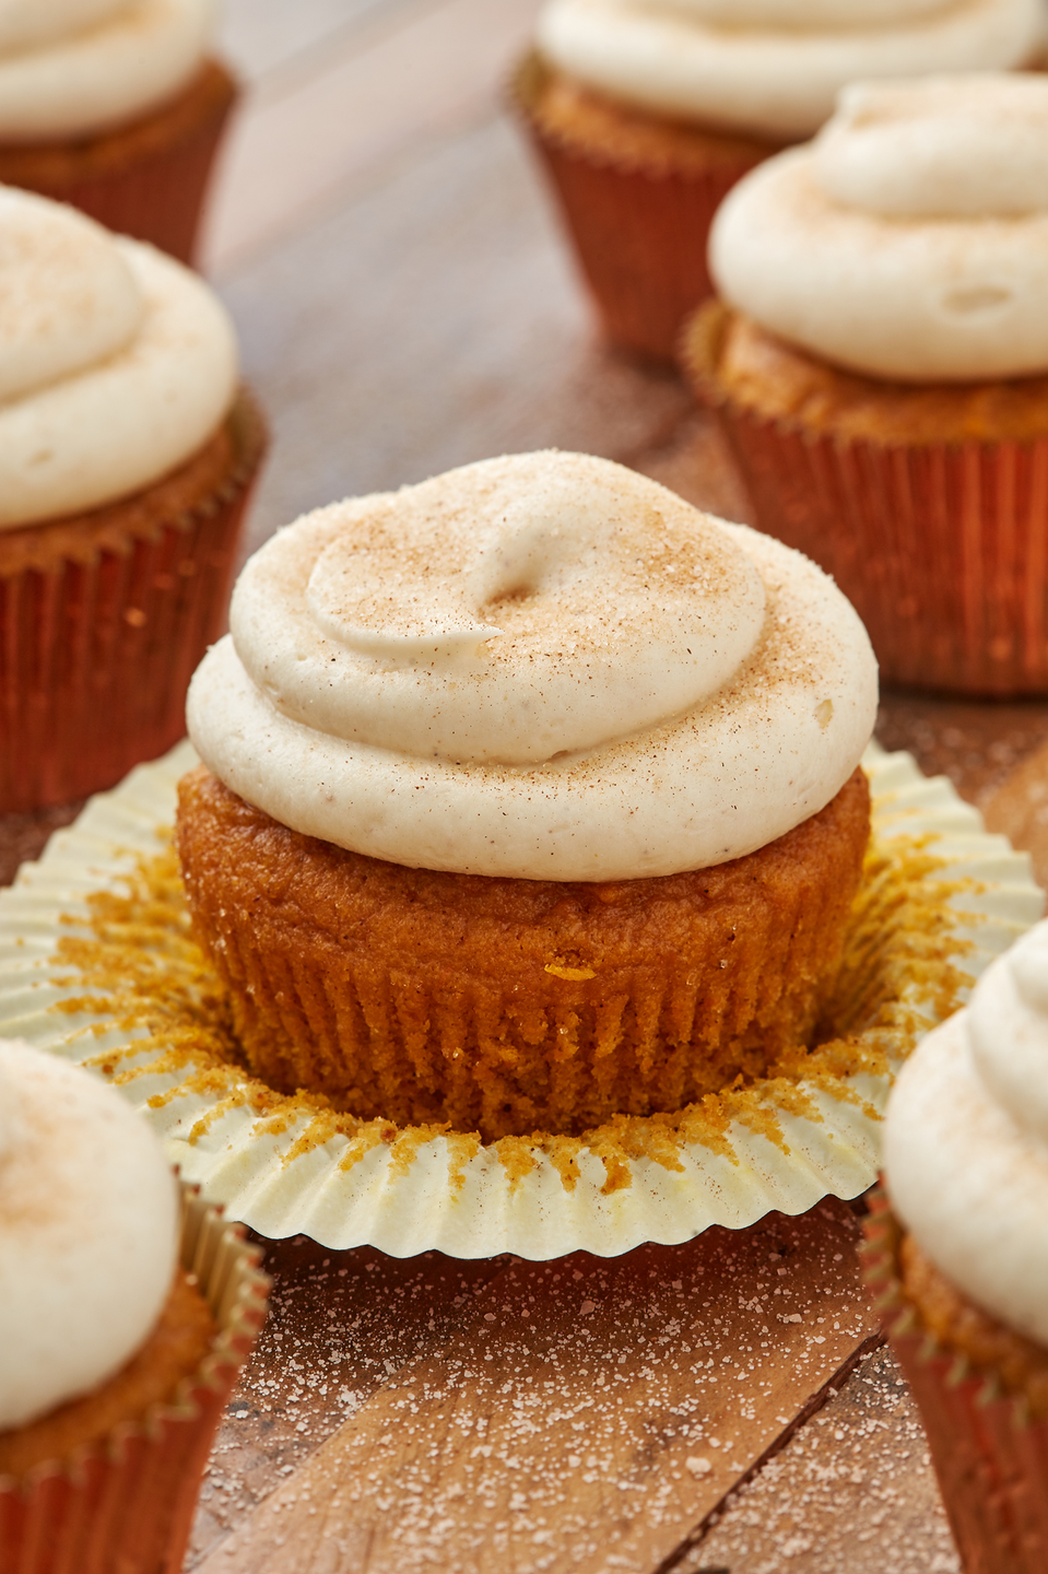
<svg viewBox="0 0 1048 1574"><path fill-rule="evenodd" d="M244 570L189 732L274 818L423 869L738 858L873 724L851 606L798 552L606 460L516 455L334 504Z"/></svg>

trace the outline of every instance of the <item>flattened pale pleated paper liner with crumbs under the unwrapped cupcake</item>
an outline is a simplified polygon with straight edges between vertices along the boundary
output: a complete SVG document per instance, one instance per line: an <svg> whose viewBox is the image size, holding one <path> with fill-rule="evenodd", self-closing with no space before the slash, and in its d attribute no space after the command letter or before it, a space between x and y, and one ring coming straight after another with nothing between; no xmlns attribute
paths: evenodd
<svg viewBox="0 0 1048 1574"><path fill-rule="evenodd" d="M0 892L0 1034L113 1078L183 1174L264 1236L392 1256L615 1256L856 1196L876 1174L892 1069L1042 913L1026 855L910 756L865 757L875 842L837 1031L746 1089L582 1138L356 1121L236 1062L228 1003L189 932L170 848L189 745L134 771Z"/></svg>

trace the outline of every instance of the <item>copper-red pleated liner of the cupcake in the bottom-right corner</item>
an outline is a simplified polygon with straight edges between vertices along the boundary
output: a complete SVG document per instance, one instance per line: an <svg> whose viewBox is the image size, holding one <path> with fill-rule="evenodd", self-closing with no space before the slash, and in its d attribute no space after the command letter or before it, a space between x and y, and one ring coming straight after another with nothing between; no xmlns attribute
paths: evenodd
<svg viewBox="0 0 1048 1574"><path fill-rule="evenodd" d="M876 1193L865 1226L870 1289L921 1409L965 1574L1048 1568L1048 1421L1002 1396L919 1324L899 1283L902 1229Z"/></svg>

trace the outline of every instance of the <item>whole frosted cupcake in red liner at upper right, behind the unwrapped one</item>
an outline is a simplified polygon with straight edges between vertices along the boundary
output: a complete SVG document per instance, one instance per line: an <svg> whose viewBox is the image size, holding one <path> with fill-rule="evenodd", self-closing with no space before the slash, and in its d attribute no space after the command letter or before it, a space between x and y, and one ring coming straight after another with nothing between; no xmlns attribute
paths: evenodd
<svg viewBox="0 0 1048 1574"><path fill-rule="evenodd" d="M1043 76L859 83L713 227L685 364L889 682L1048 691L1045 139Z"/></svg>

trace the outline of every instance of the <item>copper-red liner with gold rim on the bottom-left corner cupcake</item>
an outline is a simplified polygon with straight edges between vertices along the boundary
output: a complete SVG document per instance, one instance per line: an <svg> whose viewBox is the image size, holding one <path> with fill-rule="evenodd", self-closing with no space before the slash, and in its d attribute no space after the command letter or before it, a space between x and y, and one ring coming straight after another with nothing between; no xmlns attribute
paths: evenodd
<svg viewBox="0 0 1048 1574"><path fill-rule="evenodd" d="M0 1476L0 1574L179 1574L216 1428L266 1319L258 1259L184 1187L181 1265L219 1335L170 1404L22 1481Z"/></svg>

